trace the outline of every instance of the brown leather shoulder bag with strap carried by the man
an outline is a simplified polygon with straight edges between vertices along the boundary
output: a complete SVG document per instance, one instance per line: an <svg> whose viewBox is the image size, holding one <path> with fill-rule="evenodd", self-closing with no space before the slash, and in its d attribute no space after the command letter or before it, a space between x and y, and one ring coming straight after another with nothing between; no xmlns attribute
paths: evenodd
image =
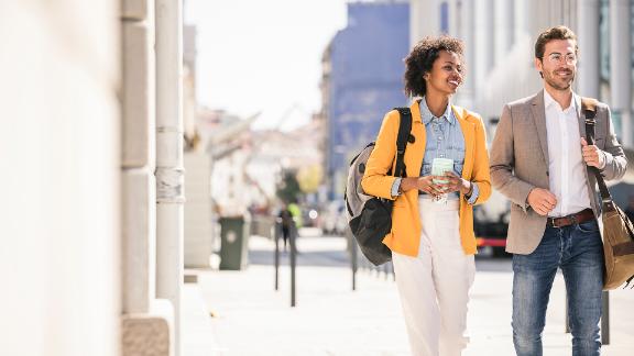
<svg viewBox="0 0 634 356"><path fill-rule="evenodd" d="M597 99L582 98L581 109L586 115L586 140L594 144L594 118ZM634 229L627 215L614 203L605 186L603 176L595 167L589 167L597 177L602 201L603 254L605 255L605 276L603 290L615 289L634 278Z"/></svg>

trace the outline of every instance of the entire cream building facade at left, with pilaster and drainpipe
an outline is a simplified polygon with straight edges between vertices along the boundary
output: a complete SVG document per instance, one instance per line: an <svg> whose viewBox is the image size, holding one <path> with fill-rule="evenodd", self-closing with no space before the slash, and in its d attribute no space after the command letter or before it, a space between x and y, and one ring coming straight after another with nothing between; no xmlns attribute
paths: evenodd
<svg viewBox="0 0 634 356"><path fill-rule="evenodd" d="M0 1L2 355L179 354L182 5Z"/></svg>

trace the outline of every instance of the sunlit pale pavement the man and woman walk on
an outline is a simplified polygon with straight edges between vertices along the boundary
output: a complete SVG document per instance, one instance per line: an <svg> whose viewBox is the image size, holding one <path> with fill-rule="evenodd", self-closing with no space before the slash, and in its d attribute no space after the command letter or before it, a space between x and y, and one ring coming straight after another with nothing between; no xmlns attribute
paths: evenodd
<svg viewBox="0 0 634 356"><path fill-rule="evenodd" d="M343 238L304 236L297 246L295 308L289 307L287 255L275 291L273 244L263 237L251 238L247 270L188 270L198 275L198 285L185 288L183 355L409 355L390 275L361 270L352 291ZM468 319L471 343L463 355L515 355L510 259L482 257L477 264ZM564 303L559 275L544 332L545 356L571 355L570 336L564 332ZM633 355L634 290L611 292L611 344L602 355Z"/></svg>

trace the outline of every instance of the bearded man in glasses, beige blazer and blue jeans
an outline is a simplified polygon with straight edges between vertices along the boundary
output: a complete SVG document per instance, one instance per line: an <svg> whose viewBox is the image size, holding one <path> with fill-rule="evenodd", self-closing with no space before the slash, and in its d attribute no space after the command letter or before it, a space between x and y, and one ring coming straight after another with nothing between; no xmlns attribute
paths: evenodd
<svg viewBox="0 0 634 356"><path fill-rule="evenodd" d="M557 268L568 293L572 355L599 355L603 252L597 222L597 167L605 180L625 174L610 110L597 107L595 145L586 140L577 73L577 37L568 27L535 43L544 90L504 107L491 148L491 181L511 200L506 251L513 254L513 343L518 356L542 355L542 331Z"/></svg>

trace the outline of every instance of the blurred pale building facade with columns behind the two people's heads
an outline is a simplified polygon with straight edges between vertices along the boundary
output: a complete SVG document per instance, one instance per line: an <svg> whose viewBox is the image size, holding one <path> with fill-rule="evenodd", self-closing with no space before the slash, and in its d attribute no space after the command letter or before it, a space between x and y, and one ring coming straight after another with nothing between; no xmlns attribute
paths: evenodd
<svg viewBox="0 0 634 356"><path fill-rule="evenodd" d="M534 43L547 27L566 25L579 41L573 90L610 104L616 134L634 147L630 0L412 0L412 45L447 33L464 41L467 79L456 102L485 121L504 103L542 88Z"/></svg>

